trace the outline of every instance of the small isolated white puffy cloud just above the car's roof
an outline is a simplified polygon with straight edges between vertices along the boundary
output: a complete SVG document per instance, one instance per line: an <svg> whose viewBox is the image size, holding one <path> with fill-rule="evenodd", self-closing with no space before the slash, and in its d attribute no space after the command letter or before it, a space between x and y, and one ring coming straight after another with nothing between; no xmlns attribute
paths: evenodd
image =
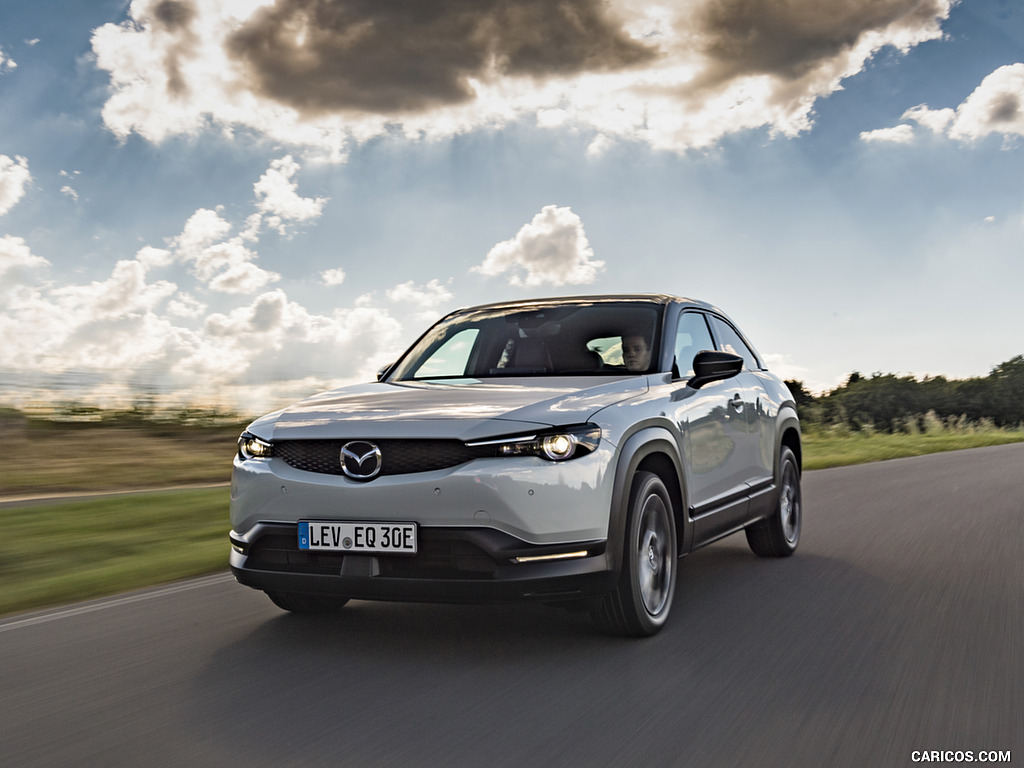
<svg viewBox="0 0 1024 768"><path fill-rule="evenodd" d="M492 248L472 271L489 278L511 272L513 286L563 286L593 283L603 268L603 261L594 260L583 221L572 209L545 206L514 238Z"/></svg>

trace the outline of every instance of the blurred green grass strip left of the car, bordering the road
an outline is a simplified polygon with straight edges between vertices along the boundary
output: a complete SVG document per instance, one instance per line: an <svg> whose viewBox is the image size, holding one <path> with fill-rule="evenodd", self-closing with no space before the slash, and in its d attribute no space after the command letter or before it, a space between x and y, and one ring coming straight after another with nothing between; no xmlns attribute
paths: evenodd
<svg viewBox="0 0 1024 768"><path fill-rule="evenodd" d="M0 509L0 614L227 567L228 489Z"/></svg>

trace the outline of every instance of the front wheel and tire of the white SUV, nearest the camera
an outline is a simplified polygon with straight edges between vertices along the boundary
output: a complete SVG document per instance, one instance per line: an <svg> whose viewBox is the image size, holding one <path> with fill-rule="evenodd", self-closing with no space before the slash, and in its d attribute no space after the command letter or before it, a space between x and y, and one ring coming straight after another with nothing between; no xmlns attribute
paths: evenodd
<svg viewBox="0 0 1024 768"><path fill-rule="evenodd" d="M623 543L618 585L602 595L594 618L613 635L649 637L665 626L676 592L676 520L662 478L637 472Z"/></svg>

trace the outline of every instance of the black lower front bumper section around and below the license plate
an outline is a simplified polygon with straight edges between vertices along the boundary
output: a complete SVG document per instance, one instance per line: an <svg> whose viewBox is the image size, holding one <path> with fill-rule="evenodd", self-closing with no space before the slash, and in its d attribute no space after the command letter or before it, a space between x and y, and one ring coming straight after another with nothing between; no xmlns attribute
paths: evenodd
<svg viewBox="0 0 1024 768"><path fill-rule="evenodd" d="M616 572L603 540L531 545L494 528L421 526L412 556L299 550L293 523L232 531L239 583L267 592L412 602L556 601L598 595ZM586 552L585 556L566 555Z"/></svg>

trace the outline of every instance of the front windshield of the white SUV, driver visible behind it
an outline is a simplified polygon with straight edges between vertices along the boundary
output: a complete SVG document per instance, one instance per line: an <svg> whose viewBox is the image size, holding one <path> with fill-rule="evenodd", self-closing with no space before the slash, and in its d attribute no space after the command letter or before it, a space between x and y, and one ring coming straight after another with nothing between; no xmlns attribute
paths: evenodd
<svg viewBox="0 0 1024 768"><path fill-rule="evenodd" d="M659 304L622 301L470 310L428 331L389 378L651 373L660 316Z"/></svg>

